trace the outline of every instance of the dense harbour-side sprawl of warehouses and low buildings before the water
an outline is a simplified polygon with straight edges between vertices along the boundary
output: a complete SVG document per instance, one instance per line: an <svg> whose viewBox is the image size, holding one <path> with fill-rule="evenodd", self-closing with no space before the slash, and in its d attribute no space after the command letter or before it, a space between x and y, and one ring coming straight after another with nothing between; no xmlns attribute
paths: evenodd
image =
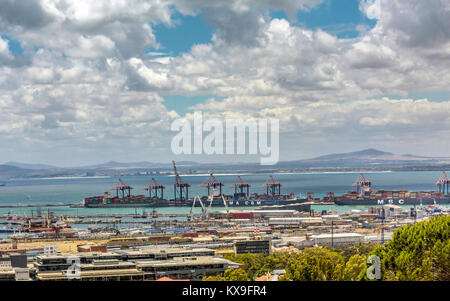
<svg viewBox="0 0 450 301"><path fill-rule="evenodd" d="M47 223L51 221L45 225L51 230L16 231L1 241L2 260L6 262L7 258L21 256L23 263L20 269L11 270L14 273L7 273L3 268L0 277L36 281L71 279L65 271L71 266L68 258L75 256L81 260L80 274L76 278L81 280L158 280L163 277L201 280L230 267L239 268L239 263L224 259L224 254L298 252L315 246L383 245L402 226L449 214L449 208L433 205L409 210L384 205L370 207L367 211L340 213L265 208L202 210L174 216L43 214L39 218ZM37 218L0 217L2 223L16 224L36 222ZM109 226L76 227L83 220L90 224L92 218L121 221L109 221ZM61 262L57 264L57 260ZM218 263L220 268L217 268ZM211 267L205 268L208 264ZM163 266L171 266L171 272L161 269ZM133 272L123 274L124 269Z"/></svg>

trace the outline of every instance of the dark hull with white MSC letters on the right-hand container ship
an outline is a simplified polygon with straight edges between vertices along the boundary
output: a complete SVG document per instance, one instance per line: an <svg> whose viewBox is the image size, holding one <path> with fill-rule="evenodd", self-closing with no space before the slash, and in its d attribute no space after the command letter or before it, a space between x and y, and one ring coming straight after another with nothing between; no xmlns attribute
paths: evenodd
<svg viewBox="0 0 450 301"><path fill-rule="evenodd" d="M338 206L379 206L379 205L434 205L450 204L450 197L444 198L404 198L404 199L335 199Z"/></svg>

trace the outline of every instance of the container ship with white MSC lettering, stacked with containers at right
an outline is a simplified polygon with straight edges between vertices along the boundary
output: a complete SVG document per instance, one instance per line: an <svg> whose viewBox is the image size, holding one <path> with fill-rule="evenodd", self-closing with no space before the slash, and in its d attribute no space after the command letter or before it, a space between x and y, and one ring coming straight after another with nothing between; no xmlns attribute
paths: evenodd
<svg viewBox="0 0 450 301"><path fill-rule="evenodd" d="M331 194L331 198L328 197L327 200L342 206L450 204L449 183L447 174L443 172L441 178L436 182L439 187L438 191L372 190L372 183L363 174L360 174L356 183L353 184L357 187L356 191L350 191L340 196Z"/></svg>

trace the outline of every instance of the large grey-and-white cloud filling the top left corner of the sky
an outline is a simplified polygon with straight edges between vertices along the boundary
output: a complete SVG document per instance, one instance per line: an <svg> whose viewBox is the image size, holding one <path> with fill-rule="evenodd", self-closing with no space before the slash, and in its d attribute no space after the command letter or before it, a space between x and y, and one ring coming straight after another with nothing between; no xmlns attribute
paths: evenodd
<svg viewBox="0 0 450 301"><path fill-rule="evenodd" d="M27 2L30 2L28 5ZM71 56L140 55L158 47L151 24L171 24L171 3L154 1L6 1L0 24L28 47Z"/></svg>

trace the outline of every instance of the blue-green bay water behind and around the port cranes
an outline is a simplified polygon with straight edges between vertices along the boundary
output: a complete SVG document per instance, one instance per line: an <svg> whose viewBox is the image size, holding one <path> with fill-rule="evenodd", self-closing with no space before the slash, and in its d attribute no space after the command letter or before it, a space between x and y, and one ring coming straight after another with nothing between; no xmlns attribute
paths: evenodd
<svg viewBox="0 0 450 301"><path fill-rule="evenodd" d="M427 191L435 190L435 183L440 172L374 172L366 173L372 181L373 189ZM314 174L273 174L281 182L282 193L293 192L296 196L306 197L307 192L313 192L314 197L324 197L328 192L339 195L354 190L352 184L356 181L358 173L314 173ZM236 175L216 175L216 178L225 184L224 192L232 194L234 189L230 186L236 181ZM250 192L264 193L262 187L269 174L245 174L241 177L251 185ZM152 176L122 177L125 183L134 188L133 194L145 194L142 189L150 183ZM158 182L166 186L165 198L173 198L173 176L157 176ZM199 187L206 179L206 175L184 175L185 182L191 184L189 195L206 195L206 188ZM102 195L111 189L117 178L59 178L59 179L23 179L5 182L0 187L0 206L18 204L56 204L80 203L85 197ZM348 211L350 209L365 209L365 206L315 206L315 210ZM248 209L248 208L242 208ZM0 215L36 214L36 208L0 208ZM142 208L70 208L70 207L43 207L43 212L50 210L57 214L112 214L112 213L141 213ZM149 212L151 209L145 209ZM157 208L160 213L188 213L190 208ZM196 208L196 210L200 210ZM215 208L214 210L223 210Z"/></svg>

